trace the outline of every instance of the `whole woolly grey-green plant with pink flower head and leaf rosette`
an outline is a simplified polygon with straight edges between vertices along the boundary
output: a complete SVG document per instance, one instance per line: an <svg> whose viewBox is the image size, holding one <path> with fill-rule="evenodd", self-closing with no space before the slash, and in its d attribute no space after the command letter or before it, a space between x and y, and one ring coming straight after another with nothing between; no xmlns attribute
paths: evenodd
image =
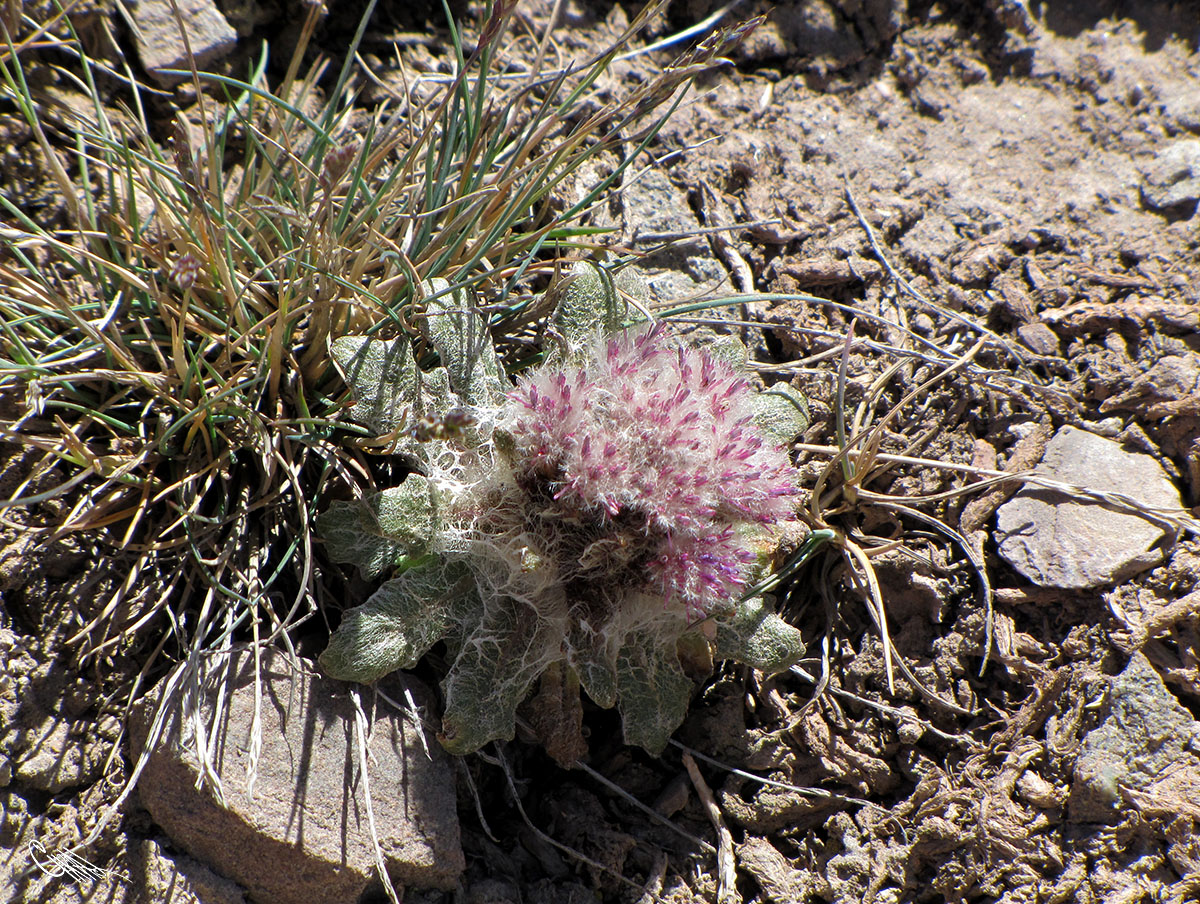
<svg viewBox="0 0 1200 904"><path fill-rule="evenodd" d="M445 641L439 740L454 753L511 738L523 718L575 762L581 689L619 710L626 742L658 752L686 713L689 673L714 658L776 671L804 652L763 598L744 598L793 517L782 444L804 425L803 399L754 391L739 345L620 330L599 276L576 269L556 323L607 330L565 330L568 351L516 388L463 299L431 306L432 371L404 341L334 346L352 415L401 437L415 471L318 525L335 558L400 571L346 612L320 661L370 682ZM434 406L468 426L430 430Z"/></svg>

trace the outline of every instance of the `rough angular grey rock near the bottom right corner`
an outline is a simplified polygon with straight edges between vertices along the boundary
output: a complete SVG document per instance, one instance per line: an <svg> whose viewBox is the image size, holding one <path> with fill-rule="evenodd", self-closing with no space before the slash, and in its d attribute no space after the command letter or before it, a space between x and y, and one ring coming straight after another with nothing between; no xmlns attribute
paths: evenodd
<svg viewBox="0 0 1200 904"><path fill-rule="evenodd" d="M1116 822L1122 804L1180 771L1200 772L1190 753L1200 723L1175 699L1140 651L1110 680L1104 720L1084 737L1068 813L1078 822Z"/></svg>

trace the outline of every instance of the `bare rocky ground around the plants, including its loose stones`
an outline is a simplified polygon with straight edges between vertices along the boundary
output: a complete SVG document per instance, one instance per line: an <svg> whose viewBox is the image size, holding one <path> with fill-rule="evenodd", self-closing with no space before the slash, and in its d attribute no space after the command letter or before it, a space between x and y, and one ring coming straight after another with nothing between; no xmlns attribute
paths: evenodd
<svg viewBox="0 0 1200 904"><path fill-rule="evenodd" d="M290 40L280 4L218 6L204 47L222 65ZM523 5L530 34L554 6ZM630 16L560 6L566 56ZM646 41L718 6L672 4ZM728 316L757 324L757 359L809 395L798 454L814 485L848 348L846 411L907 460L815 509L871 550L911 676L889 675L870 597L830 553L784 600L812 658L770 681L719 672L662 758L624 748L594 711L586 770L521 741L451 760L413 718L436 723L436 699L397 680L396 705L370 713L365 774L406 900L1200 899L1200 26L1190 4L1128 6L731 13L767 19L594 220L653 252L642 269L660 300L791 297ZM377 11L365 104L394 41L418 70L444 65L425 12ZM318 37L331 52L343 14ZM173 65L144 41L146 68ZM612 78L671 58L655 53ZM28 128L5 110L0 130L5 192L52 222L61 199ZM4 400L5 418L19 403ZM28 454L4 449L7 498ZM1034 466L1037 483L955 492ZM80 600L103 600L122 563L88 537L34 545L23 523L0 533L0 897L382 900L348 753L367 714L282 653L258 696L244 660L214 678L232 725L226 807L194 790L187 758L150 760L83 860L62 857L155 726L66 647Z"/></svg>

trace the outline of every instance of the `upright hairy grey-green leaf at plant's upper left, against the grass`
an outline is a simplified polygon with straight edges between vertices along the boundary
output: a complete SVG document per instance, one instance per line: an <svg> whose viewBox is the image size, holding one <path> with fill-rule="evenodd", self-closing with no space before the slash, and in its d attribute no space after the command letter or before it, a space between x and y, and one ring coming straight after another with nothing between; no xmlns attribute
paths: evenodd
<svg viewBox="0 0 1200 904"><path fill-rule="evenodd" d="M504 396L500 365L487 324L470 306L467 291L450 291L443 279L424 283L421 331L437 351L451 388L468 405L492 405Z"/></svg>

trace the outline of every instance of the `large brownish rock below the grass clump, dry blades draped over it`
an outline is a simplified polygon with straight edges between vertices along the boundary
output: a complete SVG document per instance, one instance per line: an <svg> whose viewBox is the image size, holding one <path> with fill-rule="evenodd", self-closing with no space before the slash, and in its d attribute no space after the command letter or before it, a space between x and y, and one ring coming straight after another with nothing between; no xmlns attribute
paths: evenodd
<svg viewBox="0 0 1200 904"><path fill-rule="evenodd" d="M416 680L380 682L392 700L410 690L432 708ZM349 686L296 669L282 653L263 652L262 748L248 786L254 719L253 657L209 675L204 712L224 695L226 716L206 738L224 794L222 807L198 790L191 722L169 717L138 783L155 821L190 855L238 881L258 904L341 904L374 879L374 846L359 770ZM370 692L364 689L365 706ZM155 701L131 716L134 755L146 743ZM394 882L452 888L464 868L449 755L403 713L380 701L367 752L374 827Z"/></svg>

